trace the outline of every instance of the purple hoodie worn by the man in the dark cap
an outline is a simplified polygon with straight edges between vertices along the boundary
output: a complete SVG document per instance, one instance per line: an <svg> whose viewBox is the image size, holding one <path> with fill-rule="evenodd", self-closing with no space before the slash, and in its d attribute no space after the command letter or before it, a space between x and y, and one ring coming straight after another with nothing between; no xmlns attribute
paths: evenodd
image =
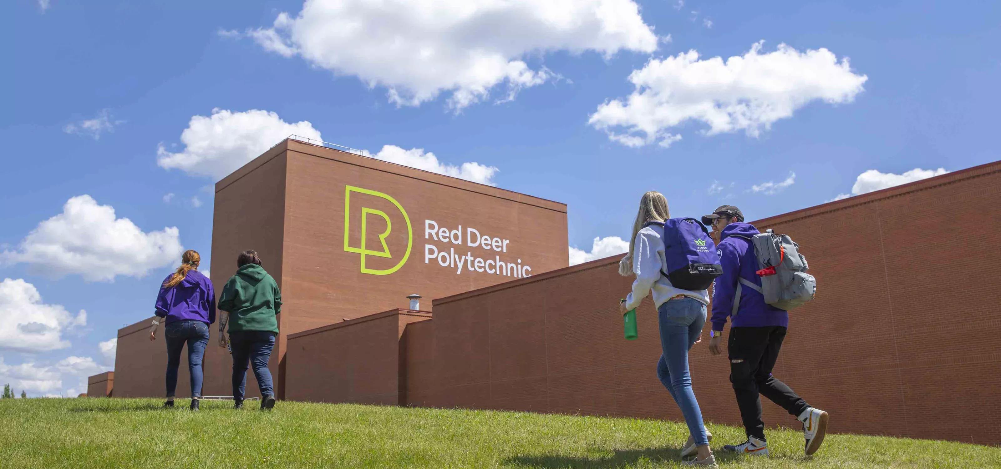
<svg viewBox="0 0 1001 469"><path fill-rule="evenodd" d="M761 286L758 257L749 239L741 238L760 234L750 223L731 223L720 233L720 244L716 245L720 254L723 275L713 282L713 330L723 331L727 317L734 309L734 294L737 293L737 277L743 277ZM765 303L765 296L751 288L741 288L741 304L732 327L789 327L789 313Z"/></svg>

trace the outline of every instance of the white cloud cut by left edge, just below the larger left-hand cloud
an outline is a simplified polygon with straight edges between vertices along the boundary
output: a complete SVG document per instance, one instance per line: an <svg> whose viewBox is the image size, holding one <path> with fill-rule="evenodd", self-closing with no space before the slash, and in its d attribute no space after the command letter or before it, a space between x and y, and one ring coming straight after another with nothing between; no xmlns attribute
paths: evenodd
<svg viewBox="0 0 1001 469"><path fill-rule="evenodd" d="M87 312L73 316L62 305L42 302L34 285L23 279L0 282L0 349L46 352L69 347L62 334L87 324Z"/></svg>

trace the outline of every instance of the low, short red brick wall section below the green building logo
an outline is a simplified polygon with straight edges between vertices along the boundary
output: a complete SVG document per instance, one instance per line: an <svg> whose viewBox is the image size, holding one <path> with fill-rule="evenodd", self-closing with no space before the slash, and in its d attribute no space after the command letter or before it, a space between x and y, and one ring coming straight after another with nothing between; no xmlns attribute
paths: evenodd
<svg viewBox="0 0 1001 469"><path fill-rule="evenodd" d="M430 313L393 310L288 336L286 399L399 405L401 337Z"/></svg>

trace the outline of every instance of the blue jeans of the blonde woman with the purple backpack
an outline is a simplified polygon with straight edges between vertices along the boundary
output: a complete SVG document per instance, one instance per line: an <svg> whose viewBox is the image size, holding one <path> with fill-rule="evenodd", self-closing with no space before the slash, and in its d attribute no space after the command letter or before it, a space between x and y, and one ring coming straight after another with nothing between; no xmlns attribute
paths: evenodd
<svg viewBox="0 0 1001 469"><path fill-rule="evenodd" d="M706 305L686 297L665 302L657 312L661 324L661 349L664 351L657 362L657 377L681 408L695 444L708 445L706 426L692 391L688 368L688 351L699 340L702 327L706 324Z"/></svg>

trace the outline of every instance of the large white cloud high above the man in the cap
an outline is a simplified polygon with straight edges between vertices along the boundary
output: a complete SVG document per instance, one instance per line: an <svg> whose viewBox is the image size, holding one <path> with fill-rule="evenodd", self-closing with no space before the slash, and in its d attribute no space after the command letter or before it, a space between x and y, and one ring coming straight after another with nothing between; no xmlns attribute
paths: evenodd
<svg viewBox="0 0 1001 469"><path fill-rule="evenodd" d="M709 126L707 135L743 130L757 137L772 123L792 117L808 103L848 103L863 91L865 75L852 73L821 48L799 52L779 44L761 54L762 42L743 56L699 60L695 50L651 59L629 80L636 90L625 100L598 106L589 123L612 135L642 135L645 144L675 138L670 132L686 121ZM625 129L625 132L619 129Z"/></svg>

